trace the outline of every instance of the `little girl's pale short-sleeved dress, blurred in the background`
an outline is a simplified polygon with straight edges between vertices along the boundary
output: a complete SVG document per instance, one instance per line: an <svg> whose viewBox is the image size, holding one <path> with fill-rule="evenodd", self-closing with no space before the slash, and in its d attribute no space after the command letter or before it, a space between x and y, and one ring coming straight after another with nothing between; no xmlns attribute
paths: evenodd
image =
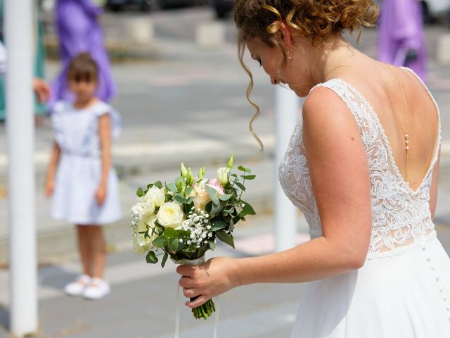
<svg viewBox="0 0 450 338"><path fill-rule="evenodd" d="M102 101L77 109L59 101L51 115L55 141L61 149L53 190L51 215L77 225L101 225L120 220L117 175L110 168L107 196L102 205L95 199L101 182L101 145L98 118L110 114L111 135L120 133L120 115Z"/></svg>

